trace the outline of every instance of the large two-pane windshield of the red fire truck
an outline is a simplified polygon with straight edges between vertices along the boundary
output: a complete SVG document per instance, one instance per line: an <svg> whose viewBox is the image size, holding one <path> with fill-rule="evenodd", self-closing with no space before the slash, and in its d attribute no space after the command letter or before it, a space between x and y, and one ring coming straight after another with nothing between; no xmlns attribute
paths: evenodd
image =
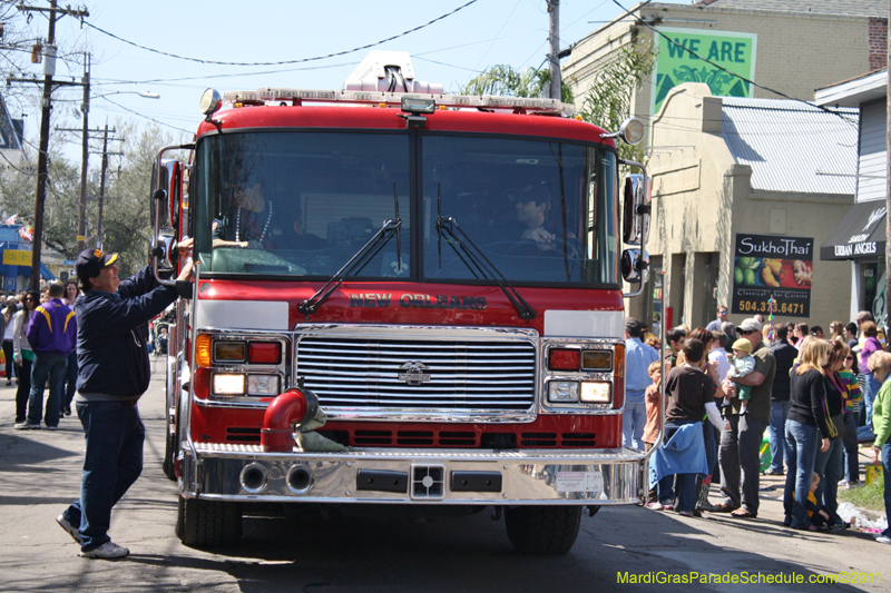
<svg viewBox="0 0 891 593"><path fill-rule="evenodd" d="M192 194L203 274L327 280L398 211L401 245L350 278L496 284L443 235L448 218L511 284L619 284L617 160L598 145L229 132L200 140Z"/></svg>

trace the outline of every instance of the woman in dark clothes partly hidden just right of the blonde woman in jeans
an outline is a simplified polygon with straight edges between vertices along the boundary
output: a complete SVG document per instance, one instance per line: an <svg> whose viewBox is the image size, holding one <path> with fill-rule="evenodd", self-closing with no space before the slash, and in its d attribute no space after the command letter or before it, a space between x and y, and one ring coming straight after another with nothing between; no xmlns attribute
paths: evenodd
<svg viewBox="0 0 891 593"><path fill-rule="evenodd" d="M848 392L839 370L844 367L846 354L848 346L841 342L833 342L830 346L829 360L823 366L825 397L822 405L826 413L830 444L826 451L819 451L814 459L814 473L820 476L820 485L814 496L817 506L829 510L830 518L824 527L829 531L841 531L851 526L836 513L839 482L844 477L844 395Z"/></svg>

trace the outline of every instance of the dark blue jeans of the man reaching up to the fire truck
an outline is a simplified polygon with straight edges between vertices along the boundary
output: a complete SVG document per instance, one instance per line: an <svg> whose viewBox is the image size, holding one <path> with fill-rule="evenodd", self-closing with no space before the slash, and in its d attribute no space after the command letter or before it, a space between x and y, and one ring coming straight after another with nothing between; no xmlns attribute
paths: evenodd
<svg viewBox="0 0 891 593"><path fill-rule="evenodd" d="M146 429L130 404L79 402L77 415L84 426L87 454L80 500L62 515L71 525L80 525L81 551L89 552L110 541L111 507L143 471Z"/></svg>

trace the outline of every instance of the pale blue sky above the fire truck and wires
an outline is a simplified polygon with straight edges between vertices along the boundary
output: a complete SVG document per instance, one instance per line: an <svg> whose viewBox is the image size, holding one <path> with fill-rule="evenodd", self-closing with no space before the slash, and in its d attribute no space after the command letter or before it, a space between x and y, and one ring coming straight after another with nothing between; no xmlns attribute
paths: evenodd
<svg viewBox="0 0 891 593"><path fill-rule="evenodd" d="M86 4L86 21L115 37L66 17L57 24L57 45L65 51L89 50L92 55L90 127L106 119L151 118L170 132L190 138L200 119L198 99L207 87L254 90L260 87L340 89L368 49L342 56L278 66L212 65L163 56L167 53L221 62L278 62L306 60L352 50L398 36L442 17L469 0L441 2L374 2L354 0L231 1L217 0L94 0ZM636 2L619 0L626 8ZM689 3L688 0L662 0ZM61 6L67 2L60 1ZM32 0L31 6L49 6ZM613 0L562 0L560 2L561 48L566 48L620 13ZM47 18L35 14L19 26L35 37L47 34ZM116 39L118 38L118 39ZM440 82L446 91L458 91L479 71L496 63L515 68L539 67L548 51L548 12L545 0L477 0L421 30L373 49L411 53L418 80ZM40 66L28 65L40 75ZM63 57L57 77L82 75L82 56ZM69 78L70 80L70 78ZM146 99L135 91L159 93ZM117 95L109 95L117 93ZM76 108L78 87L57 90L53 127L80 127ZM111 101L114 101L114 105ZM38 141L39 88L27 96L10 98L13 117L27 113L26 140ZM138 113L135 115L135 113ZM143 116L143 117L139 117ZM70 135L65 155L79 162L79 137ZM91 158L91 165L98 159Z"/></svg>

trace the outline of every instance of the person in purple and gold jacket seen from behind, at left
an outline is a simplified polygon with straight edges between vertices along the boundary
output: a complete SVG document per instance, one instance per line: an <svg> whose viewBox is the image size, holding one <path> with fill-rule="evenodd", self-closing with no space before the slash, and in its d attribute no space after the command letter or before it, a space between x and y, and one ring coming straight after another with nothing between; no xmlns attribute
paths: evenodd
<svg viewBox="0 0 891 593"><path fill-rule="evenodd" d="M43 386L49 378L49 398L43 422L47 428L59 427L61 387L68 356L75 349L77 320L75 313L62 303L65 287L49 286L49 299L35 309L28 322L28 343L35 353L31 366L31 393L28 395L28 418L14 426L19 431L40 428L43 412Z"/></svg>

